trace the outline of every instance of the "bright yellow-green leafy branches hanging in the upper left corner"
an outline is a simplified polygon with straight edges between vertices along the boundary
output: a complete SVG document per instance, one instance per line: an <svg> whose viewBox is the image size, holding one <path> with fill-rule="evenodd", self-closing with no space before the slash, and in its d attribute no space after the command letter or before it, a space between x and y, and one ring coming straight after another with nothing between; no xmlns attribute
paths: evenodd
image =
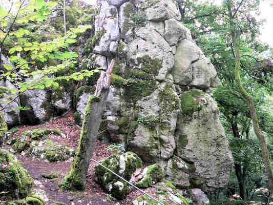
<svg viewBox="0 0 273 205"><path fill-rule="evenodd" d="M63 36L51 26L48 18L55 6L55 2L31 1L28 5L19 4L14 11L7 13L7 17L0 19L0 27L5 28L0 31L1 53L15 66L3 64L4 72L0 73L0 79L12 81L19 88L18 92L57 88L62 80L82 80L94 73L81 70L57 75L62 70L74 70L78 55L71 48L78 44L78 36L92 29L92 26L75 24L76 28L70 27ZM68 15L71 14L69 11ZM16 18L14 12L18 13ZM83 15L79 13L77 15ZM52 77L54 75L57 76ZM26 77L33 80L25 81ZM6 89L5 92L14 93L13 90Z"/></svg>

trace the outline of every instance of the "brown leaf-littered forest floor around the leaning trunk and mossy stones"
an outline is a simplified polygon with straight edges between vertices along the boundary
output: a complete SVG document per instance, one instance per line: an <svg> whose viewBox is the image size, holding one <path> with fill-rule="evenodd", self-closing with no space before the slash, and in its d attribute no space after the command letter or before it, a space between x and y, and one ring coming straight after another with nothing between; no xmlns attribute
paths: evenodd
<svg viewBox="0 0 273 205"><path fill-rule="evenodd" d="M49 138L61 145L76 148L77 141L80 134L80 127L74 123L73 112L68 112L65 116L58 117L54 120L46 122L43 125L37 126L20 126L18 131L13 134L13 137L19 136L23 131L31 131L33 129L58 129L64 135L61 136L49 136ZM96 141L95 153L92 159L101 160L110 156L112 153L107 148L110 144L106 144L100 140ZM4 149L11 150L11 147L7 144L4 145ZM15 154L15 153L14 153ZM49 162L48 160L40 159L39 157L27 157L22 154L15 154L17 159L22 162L23 167L31 174L34 185L33 190L40 193L45 193L48 201L46 205L54 204L67 204L67 205L104 205L104 204L120 204L127 205L132 204L138 196L142 195L137 190L132 190L129 195L123 200L116 200L106 192L102 190L99 184L94 180L94 168L95 162L90 162L89 174L86 189L82 192L72 192L60 190L58 184L67 174L70 168L71 160ZM59 172L59 176L56 179L43 178L43 174L51 174ZM146 189L148 192L155 196L155 188Z"/></svg>

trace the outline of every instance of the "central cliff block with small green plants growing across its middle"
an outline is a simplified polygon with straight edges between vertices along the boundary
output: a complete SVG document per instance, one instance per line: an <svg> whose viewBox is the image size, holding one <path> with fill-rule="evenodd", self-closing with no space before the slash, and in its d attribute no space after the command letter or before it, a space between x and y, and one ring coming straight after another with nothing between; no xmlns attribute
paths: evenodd
<svg viewBox="0 0 273 205"><path fill-rule="evenodd" d="M138 101L135 130L129 147L145 161L170 158L176 148L174 132L180 109L178 95L165 83L151 95Z"/></svg>

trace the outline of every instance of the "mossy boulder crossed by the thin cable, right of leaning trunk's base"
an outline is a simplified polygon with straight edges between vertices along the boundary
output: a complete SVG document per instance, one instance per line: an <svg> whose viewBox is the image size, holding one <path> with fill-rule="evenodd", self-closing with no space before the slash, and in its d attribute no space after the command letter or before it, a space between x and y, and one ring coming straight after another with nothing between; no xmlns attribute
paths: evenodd
<svg viewBox="0 0 273 205"><path fill-rule="evenodd" d="M100 163L128 181L133 181L134 173L142 166L142 160L133 152L127 152L119 156L113 155L103 159ZM124 198L130 192L128 183L103 167L97 166L95 175L101 187L118 199Z"/></svg>

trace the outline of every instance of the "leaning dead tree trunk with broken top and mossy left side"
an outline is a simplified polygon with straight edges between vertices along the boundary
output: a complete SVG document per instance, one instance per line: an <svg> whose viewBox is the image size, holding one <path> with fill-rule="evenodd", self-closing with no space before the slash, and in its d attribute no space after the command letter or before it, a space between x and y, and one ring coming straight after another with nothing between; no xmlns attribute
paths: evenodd
<svg viewBox="0 0 273 205"><path fill-rule="evenodd" d="M86 105L86 113L83 117L78 147L61 187L69 190L82 190L86 185L86 175L90 159L94 152L95 141L101 122L101 116L106 107L106 100L110 87L110 75L115 61L112 60L106 73L101 73L97 81L96 92L89 97Z"/></svg>

